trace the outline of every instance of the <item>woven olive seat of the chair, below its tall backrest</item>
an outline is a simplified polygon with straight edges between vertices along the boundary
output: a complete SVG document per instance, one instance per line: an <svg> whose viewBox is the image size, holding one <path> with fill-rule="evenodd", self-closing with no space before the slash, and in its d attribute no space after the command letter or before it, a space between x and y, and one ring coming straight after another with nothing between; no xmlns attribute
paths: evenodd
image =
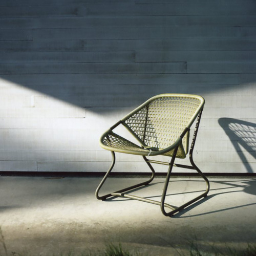
<svg viewBox="0 0 256 256"><path fill-rule="evenodd" d="M174 150L171 150L164 154L161 154L161 153L157 154L157 152L162 150L162 148L150 148L150 147L144 148L142 146L139 146L133 143L132 141L129 141L115 134L112 131L109 131L109 133L104 134L104 136L101 139L101 146L105 150L126 153L126 154L140 155L140 156L150 156L153 152L154 152L153 155L172 156L174 152ZM182 144L178 148L176 157L178 158L186 157Z"/></svg>

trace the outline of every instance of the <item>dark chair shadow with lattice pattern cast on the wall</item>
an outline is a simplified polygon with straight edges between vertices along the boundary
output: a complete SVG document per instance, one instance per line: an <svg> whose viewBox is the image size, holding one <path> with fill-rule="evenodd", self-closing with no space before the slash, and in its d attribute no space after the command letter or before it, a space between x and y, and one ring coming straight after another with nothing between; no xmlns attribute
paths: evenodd
<svg viewBox="0 0 256 256"><path fill-rule="evenodd" d="M253 169L247 161L241 146L256 159L256 124L233 118L219 118L220 126L229 137L248 173Z"/></svg>

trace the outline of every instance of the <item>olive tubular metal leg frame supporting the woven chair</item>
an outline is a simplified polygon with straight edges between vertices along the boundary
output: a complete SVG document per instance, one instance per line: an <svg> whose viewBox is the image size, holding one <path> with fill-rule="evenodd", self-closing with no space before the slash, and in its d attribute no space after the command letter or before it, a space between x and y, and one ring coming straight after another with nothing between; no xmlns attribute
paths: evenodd
<svg viewBox="0 0 256 256"><path fill-rule="evenodd" d="M191 205L191 204L195 203L196 201L200 200L201 198L205 198L207 196L207 194L209 192L209 188L210 188L209 181L208 181L207 177L198 168L198 166L195 164L194 159L193 159L193 151L194 151L195 142L196 142L196 138L197 138L197 134L198 134L198 129L199 129L199 124L200 124L200 120L201 120L202 111L203 111L203 108L200 110L200 112L197 115L197 122L196 122L196 126L195 126L194 136L193 136L193 139L192 139L191 145L190 145L189 160L190 160L191 165L175 164L175 159L176 159L176 154L177 154L177 151L178 151L178 148L179 148L179 144L175 147L175 150L174 150L174 153L173 153L173 156L172 156L172 159L170 160L170 162L151 160L151 159L147 159L145 156L142 156L144 161L146 162L148 167L150 167L151 172L152 172L151 178L149 180L144 181L144 182L139 183L139 184L135 184L135 185L130 186L130 187L122 188L120 190L115 191L114 193L99 196L99 191L100 191L101 187L105 183L106 179L109 177L109 175L110 175L110 173L111 173L111 171L112 171L112 169L115 165L115 160L116 160L115 152L111 151L112 163L111 163L110 168L108 169L108 172L106 172L106 174L104 175L103 179L101 180L100 184L98 185L98 187L96 189L96 192L95 192L96 198L99 199L99 200L106 200L107 198L111 198L111 197L122 197L122 198L135 199L135 200L139 200L139 201L143 201L143 202L147 202L147 203L156 204L156 205L160 206L162 214L164 216L169 216L169 217L173 217L178 211L184 209L188 205ZM121 123L121 121L119 121L115 125L113 125L111 127L111 130L113 130L115 127L117 127L120 123ZM188 127L186 127L186 129L183 131L183 133L180 136L181 140L185 136L185 134L187 132L189 132L189 130L190 129ZM138 187L146 186L154 180L155 170L154 170L151 163L168 165L168 171L167 171L167 175L166 175L166 179L165 179L165 183L164 183L164 188L163 188L161 201L155 201L155 200L148 199L148 198L143 198L143 197L138 197L138 196L131 195L131 194L126 194L127 191L131 191L131 190L133 190L135 188L138 188ZM179 207L176 207L176 206L165 203L165 197L166 197L167 188L168 188L170 175L172 173L173 166L196 170L197 173L201 176L201 178L203 178L203 180L206 183L206 189L205 189L204 193L202 193L201 195L195 197L194 199L182 204ZM170 208L172 210L166 211L165 208Z"/></svg>

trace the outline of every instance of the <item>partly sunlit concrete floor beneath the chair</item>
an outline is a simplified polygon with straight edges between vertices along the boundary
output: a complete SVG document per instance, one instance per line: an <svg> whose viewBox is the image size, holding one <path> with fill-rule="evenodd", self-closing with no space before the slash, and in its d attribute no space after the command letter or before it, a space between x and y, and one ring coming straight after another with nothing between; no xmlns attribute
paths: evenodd
<svg viewBox="0 0 256 256"><path fill-rule="evenodd" d="M115 189L141 180L111 178L108 184ZM256 178L209 180L206 199L169 218L154 204L96 200L100 178L0 177L4 242L10 255L97 252L109 242L143 255L190 255L192 243L211 252L256 245ZM159 200L163 182L155 178L136 195ZM174 178L166 200L178 205L202 190L199 178ZM3 238L0 253L5 255Z"/></svg>

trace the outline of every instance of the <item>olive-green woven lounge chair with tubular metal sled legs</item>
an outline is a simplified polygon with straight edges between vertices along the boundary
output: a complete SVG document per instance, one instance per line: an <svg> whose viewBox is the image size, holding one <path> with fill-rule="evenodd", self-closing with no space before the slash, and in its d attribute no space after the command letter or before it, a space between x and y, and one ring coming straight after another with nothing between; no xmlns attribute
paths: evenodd
<svg viewBox="0 0 256 256"><path fill-rule="evenodd" d="M112 153L112 164L96 189L96 197L105 200L110 197L130 198L148 203L160 205L163 215L173 217L175 213L190 204L206 197L209 191L209 181L193 160L193 150L198 133L199 123L203 111L204 99L201 96L189 94L161 94L154 96L126 115L100 138L100 146ZM197 119L195 132L189 150L189 160L191 165L175 164L176 158L185 158L189 146L190 126ZM135 137L138 144L127 140L113 130L122 124ZM115 164L115 152L140 155L150 167L151 178L145 182L126 187L114 193L99 196L99 190L108 178ZM170 157L169 162L148 159L164 155ZM151 163L168 165L168 172L165 179L161 201L142 198L135 195L126 194L137 187L148 185L155 177L155 170ZM176 207L165 203L166 191L169 184L170 174L173 166L194 169L206 182L206 189L200 196L189 202ZM166 211L170 208L170 211Z"/></svg>

